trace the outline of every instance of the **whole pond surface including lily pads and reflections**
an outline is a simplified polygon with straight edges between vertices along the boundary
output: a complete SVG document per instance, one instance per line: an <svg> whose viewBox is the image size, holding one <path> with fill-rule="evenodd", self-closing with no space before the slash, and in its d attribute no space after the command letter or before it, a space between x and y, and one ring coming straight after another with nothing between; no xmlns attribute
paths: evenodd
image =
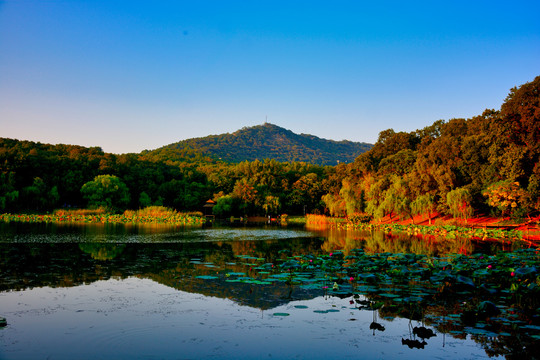
<svg viewBox="0 0 540 360"><path fill-rule="evenodd" d="M539 253L286 227L0 223L2 359L519 358Z"/></svg>

